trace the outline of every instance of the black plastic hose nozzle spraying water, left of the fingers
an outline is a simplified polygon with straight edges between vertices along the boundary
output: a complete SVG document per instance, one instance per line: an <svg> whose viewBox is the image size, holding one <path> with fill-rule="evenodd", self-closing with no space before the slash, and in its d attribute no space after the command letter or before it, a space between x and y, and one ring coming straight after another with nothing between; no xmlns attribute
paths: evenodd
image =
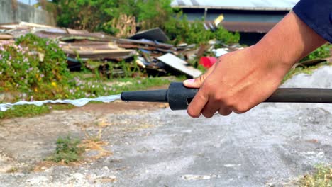
<svg viewBox="0 0 332 187"><path fill-rule="evenodd" d="M168 89L148 91L124 91L122 101L168 102L172 110L187 109L198 89L188 89L182 82L172 82Z"/></svg>

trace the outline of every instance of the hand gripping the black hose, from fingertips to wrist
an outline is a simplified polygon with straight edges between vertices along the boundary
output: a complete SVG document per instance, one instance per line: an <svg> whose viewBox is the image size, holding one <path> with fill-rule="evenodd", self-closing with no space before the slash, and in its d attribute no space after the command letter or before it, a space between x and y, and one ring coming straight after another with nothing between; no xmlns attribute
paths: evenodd
<svg viewBox="0 0 332 187"><path fill-rule="evenodd" d="M184 81L184 86L199 88L187 112L194 118L245 113L277 89L290 67L269 61L255 46L223 55L201 77Z"/></svg>

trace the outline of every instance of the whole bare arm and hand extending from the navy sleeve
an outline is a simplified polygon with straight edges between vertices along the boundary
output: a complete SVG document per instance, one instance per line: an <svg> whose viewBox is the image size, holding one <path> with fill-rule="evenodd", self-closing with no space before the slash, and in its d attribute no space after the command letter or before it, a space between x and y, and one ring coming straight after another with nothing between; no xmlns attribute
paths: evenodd
<svg viewBox="0 0 332 187"><path fill-rule="evenodd" d="M210 118L245 113L265 101L295 62L326 42L295 13L285 16L256 45L221 56L206 74L184 81L200 88L188 114Z"/></svg>

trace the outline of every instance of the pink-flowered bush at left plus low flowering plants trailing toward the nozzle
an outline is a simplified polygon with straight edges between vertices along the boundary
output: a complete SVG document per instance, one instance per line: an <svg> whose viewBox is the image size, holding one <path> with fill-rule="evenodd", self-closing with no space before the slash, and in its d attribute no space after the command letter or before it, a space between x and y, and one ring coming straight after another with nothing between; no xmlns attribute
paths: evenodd
<svg viewBox="0 0 332 187"><path fill-rule="evenodd" d="M67 69L57 42L28 34L0 47L0 91L18 92L18 100L82 98L111 94L102 80L84 80Z"/></svg>

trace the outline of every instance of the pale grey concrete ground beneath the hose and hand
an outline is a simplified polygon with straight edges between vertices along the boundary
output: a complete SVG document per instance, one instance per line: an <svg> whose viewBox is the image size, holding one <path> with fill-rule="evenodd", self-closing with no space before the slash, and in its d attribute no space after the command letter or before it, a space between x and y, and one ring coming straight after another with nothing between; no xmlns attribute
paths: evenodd
<svg viewBox="0 0 332 187"><path fill-rule="evenodd" d="M332 67L323 67L284 86L331 82ZM328 104L263 103L242 115L193 119L160 104L121 102L2 120L0 186L296 186L315 164L332 163L331 113ZM43 162L68 133L99 134L108 145L79 163Z"/></svg>

